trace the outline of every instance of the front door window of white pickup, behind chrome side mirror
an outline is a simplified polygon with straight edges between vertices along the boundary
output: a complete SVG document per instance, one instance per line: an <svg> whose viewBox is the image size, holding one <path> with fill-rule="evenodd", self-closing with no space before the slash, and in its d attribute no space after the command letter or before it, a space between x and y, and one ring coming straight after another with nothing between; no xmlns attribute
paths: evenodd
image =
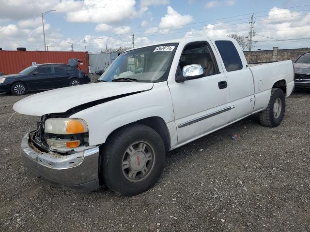
<svg viewBox="0 0 310 232"><path fill-rule="evenodd" d="M183 50L180 58L180 68L190 64L200 64L203 67L204 75L212 75L217 72L213 54L207 42L189 43Z"/></svg>

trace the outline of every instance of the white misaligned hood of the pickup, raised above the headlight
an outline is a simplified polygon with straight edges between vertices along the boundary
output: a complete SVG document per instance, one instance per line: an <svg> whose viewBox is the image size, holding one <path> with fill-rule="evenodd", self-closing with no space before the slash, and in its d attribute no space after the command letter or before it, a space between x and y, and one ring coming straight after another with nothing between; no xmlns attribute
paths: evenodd
<svg viewBox="0 0 310 232"><path fill-rule="evenodd" d="M100 82L64 87L24 98L16 102L13 109L17 113L32 116L63 113L85 103L147 91L152 89L153 85L154 83Z"/></svg>

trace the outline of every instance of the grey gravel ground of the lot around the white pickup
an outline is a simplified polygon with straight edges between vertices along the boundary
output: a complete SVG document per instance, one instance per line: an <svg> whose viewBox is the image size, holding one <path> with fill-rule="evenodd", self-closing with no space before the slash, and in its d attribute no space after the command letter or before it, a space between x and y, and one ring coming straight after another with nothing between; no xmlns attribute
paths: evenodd
<svg viewBox="0 0 310 232"><path fill-rule="evenodd" d="M20 140L38 118L11 117L22 98L0 95L0 231L310 231L310 92L287 100L277 128L251 116L169 152L155 187L135 197L76 193L27 171Z"/></svg>

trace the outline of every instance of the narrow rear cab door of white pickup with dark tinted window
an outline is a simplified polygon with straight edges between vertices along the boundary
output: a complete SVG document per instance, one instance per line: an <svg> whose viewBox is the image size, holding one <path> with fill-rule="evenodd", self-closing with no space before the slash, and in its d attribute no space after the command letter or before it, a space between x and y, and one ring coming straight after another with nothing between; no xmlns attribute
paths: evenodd
<svg viewBox="0 0 310 232"><path fill-rule="evenodd" d="M228 80L232 112L230 122L248 116L254 106L254 82L251 71L236 41L216 40L215 46L222 58L222 66Z"/></svg>

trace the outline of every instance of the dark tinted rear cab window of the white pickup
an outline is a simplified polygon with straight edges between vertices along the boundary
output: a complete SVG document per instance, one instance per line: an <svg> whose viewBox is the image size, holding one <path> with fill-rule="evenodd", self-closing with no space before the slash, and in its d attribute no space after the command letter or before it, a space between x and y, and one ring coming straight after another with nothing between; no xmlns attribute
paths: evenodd
<svg viewBox="0 0 310 232"><path fill-rule="evenodd" d="M242 69L242 61L233 42L218 40L215 42L228 72Z"/></svg>

